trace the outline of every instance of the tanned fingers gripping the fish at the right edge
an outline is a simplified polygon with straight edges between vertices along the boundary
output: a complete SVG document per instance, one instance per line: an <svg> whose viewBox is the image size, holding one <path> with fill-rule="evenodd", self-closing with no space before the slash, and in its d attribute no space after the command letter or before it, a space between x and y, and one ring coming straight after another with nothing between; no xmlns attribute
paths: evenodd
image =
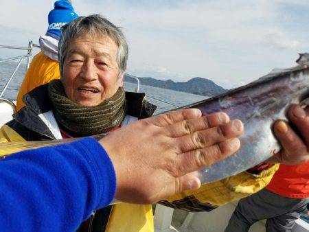
<svg viewBox="0 0 309 232"><path fill-rule="evenodd" d="M309 161L309 108L293 104L288 109L288 118L299 130L299 135L284 121L276 121L275 136L282 145L282 150L268 159L268 163L297 164Z"/></svg>

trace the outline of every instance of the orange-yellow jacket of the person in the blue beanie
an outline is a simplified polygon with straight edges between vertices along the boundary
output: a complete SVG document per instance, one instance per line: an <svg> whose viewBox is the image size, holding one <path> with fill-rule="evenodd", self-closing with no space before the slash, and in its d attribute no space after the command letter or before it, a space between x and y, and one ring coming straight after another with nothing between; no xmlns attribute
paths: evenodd
<svg viewBox="0 0 309 232"><path fill-rule="evenodd" d="M19 111L25 104L23 95L32 91L37 86L46 84L54 79L60 78L59 65L56 60L45 56L41 51L34 56L29 69L23 79L19 94L16 99L16 110Z"/></svg>

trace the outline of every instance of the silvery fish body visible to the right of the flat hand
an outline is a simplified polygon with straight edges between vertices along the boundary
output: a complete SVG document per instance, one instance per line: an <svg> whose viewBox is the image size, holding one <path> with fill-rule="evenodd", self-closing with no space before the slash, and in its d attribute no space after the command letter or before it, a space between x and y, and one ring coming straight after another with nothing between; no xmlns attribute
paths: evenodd
<svg viewBox="0 0 309 232"><path fill-rule="evenodd" d="M286 111L290 104L303 100L303 104L309 103L306 98L309 95L309 54L300 54L297 61L301 61L301 65L295 68L275 70L238 89L185 106L198 108L203 115L223 111L244 124L240 150L201 170L202 183L248 170L279 151L279 143L272 132L273 123L277 119L288 121Z"/></svg>

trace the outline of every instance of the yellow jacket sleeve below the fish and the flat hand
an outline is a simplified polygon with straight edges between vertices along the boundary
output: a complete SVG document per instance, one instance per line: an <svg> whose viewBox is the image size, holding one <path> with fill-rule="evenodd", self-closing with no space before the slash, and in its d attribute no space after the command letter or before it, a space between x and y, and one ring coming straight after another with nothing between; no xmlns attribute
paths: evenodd
<svg viewBox="0 0 309 232"><path fill-rule="evenodd" d="M273 165L260 174L241 172L235 176L202 185L197 190L176 194L160 203L186 211L211 211L220 205L260 191L268 185L278 168L279 165Z"/></svg>

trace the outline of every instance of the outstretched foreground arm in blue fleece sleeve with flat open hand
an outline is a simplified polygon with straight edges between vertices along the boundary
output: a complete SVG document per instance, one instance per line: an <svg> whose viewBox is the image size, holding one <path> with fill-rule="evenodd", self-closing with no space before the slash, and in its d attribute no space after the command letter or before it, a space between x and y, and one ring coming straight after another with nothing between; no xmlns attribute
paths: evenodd
<svg viewBox="0 0 309 232"><path fill-rule="evenodd" d="M196 189L196 171L236 152L242 130L225 113L186 109L136 121L100 143L82 139L8 156L0 161L0 230L75 231L111 202L116 178L115 196L124 202Z"/></svg>

